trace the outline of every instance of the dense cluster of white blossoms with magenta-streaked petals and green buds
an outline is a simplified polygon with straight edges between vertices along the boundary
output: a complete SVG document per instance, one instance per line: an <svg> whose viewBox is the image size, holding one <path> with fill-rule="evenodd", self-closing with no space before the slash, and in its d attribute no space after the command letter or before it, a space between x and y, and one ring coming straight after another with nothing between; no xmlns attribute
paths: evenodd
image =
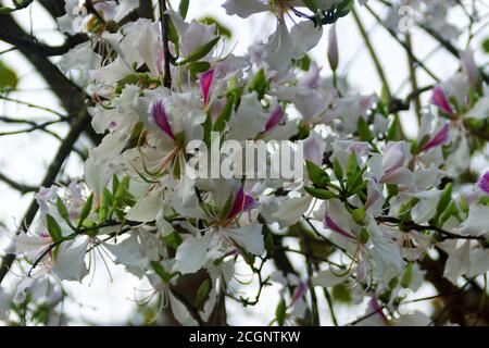
<svg viewBox="0 0 489 348"><path fill-rule="evenodd" d="M456 35L438 16L429 20L450 1L414 2L430 28ZM138 1L67 0L60 27L90 40L59 65L84 88L103 139L89 151L84 179L42 188L37 225L13 237L15 253L30 263L28 276L79 282L90 273L88 259L109 256L148 279L178 322L196 325L224 297L258 302L271 282L284 286L278 324L314 322L308 294L338 286L355 303L372 298L379 320L390 322L401 290L423 283L428 252L448 256L443 276L453 284L485 274L489 172L474 179L468 167L487 150L486 76L472 51L462 53L460 73L425 91L430 104L421 110L416 138L406 139L396 116L399 100L359 95L338 80L335 29L334 74L321 74L308 57L323 29L354 4L227 0L228 15L271 11L277 18L274 34L235 55L220 25L186 21L185 5L131 22L127 14ZM187 175L189 162L206 153L188 151L189 144L212 147L215 138L293 140L292 150L303 148L304 176ZM272 146L259 158L266 171L276 153ZM235 154L221 151L220 163ZM285 237L298 239L300 249L283 244ZM287 252L305 256L306 273L264 273L263 264ZM256 299L229 286L237 262L258 277ZM188 303L176 286L202 272L198 300ZM29 277L18 291L33 286Z"/></svg>

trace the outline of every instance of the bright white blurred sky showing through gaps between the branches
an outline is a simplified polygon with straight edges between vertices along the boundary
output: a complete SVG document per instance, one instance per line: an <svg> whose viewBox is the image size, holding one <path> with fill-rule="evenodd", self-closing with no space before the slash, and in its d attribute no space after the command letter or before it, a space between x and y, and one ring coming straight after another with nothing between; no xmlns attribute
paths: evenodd
<svg viewBox="0 0 489 348"><path fill-rule="evenodd" d="M61 2L61 1L59 1ZM202 18L205 16L218 20L231 32L229 47L234 47L235 54L243 54L253 42L264 40L272 34L276 26L276 20L271 14L255 14L247 20L238 16L228 16L221 7L223 0L191 0L187 18ZM473 1L462 1L471 7ZM487 18L489 14L489 2L477 1L479 15ZM10 1L2 0L3 5L10 5ZM171 1L176 9L178 1ZM381 1L371 0L371 8L380 18L388 16L388 8ZM409 78L409 61L405 50L397 42L392 36L380 25L377 20L364 8L356 5L356 11L368 33L372 45L375 48L381 65L384 66L387 79L394 96L405 97L411 91ZM15 22L24 32L34 35L39 42L50 46L59 46L64 42L64 35L58 29L57 22L51 14L41 5L39 1L34 1L27 9L16 11L12 14ZM449 12L449 23L454 27L465 30L469 25L468 17L461 7L453 7ZM1 20L1 18L0 18ZM288 21L292 21L289 18ZM481 50L481 42L489 36L487 23L482 27L474 28L476 33L471 48L476 51L476 61L479 66L487 65L488 55ZM324 66L322 74L330 75L327 63L327 34L329 27L324 27L324 35L319 45L310 52L319 66ZM339 41L339 72L354 90L362 94L380 94L381 82L377 75L373 60L365 47L365 42L360 35L359 27L350 14L340 18L337 23L337 35ZM451 77L459 69L460 62L454 55L440 47L440 44L430 35L419 28L413 28L412 49L414 54L424 62L429 70L441 80ZM466 47L467 37L462 35L459 38L457 47ZM58 62L59 57L50 58L51 62ZM0 100L0 254L9 245L9 235L20 228L20 222L29 206L34 190L41 182L47 166L51 162L68 127L63 122L54 122L43 129L29 133L13 134L18 129L29 127L29 124L16 124L9 122L10 119L27 119L36 123L51 122L59 119L59 114L64 113L62 101L52 92L52 86L48 84L32 65L28 59L11 45L0 40L0 74L9 71L14 74L16 88L9 94L8 100ZM423 70L417 70L419 86L434 84L432 78ZM423 104L427 104L429 95L423 95ZM23 101L16 102L17 101ZM38 108L29 107L29 104ZM401 113L401 122L409 137L414 137L417 132L417 123L412 112ZM91 141L87 136L82 137L75 147L79 152L86 153ZM486 157L489 153L486 153ZM67 183L71 178L79 178L83 175L83 159L77 153L72 153L62 169L60 182ZM11 179L21 183L22 187L12 187ZM293 243L292 240L290 243ZM301 256L291 257L292 262L301 264ZM99 262L100 264L100 262ZM265 270L273 272L272 268ZM64 310L73 319L74 324L128 324L140 323L143 320L141 311L137 310L135 294L149 288L148 284L127 274L121 266L110 265L108 271L103 266L98 266L93 277L87 276L83 284L63 282L63 287L68 294L64 301ZM238 270L238 273L240 271ZM14 286L21 276L20 272L13 272L5 279L3 286ZM242 279L247 281L246 268L242 268ZM249 281L249 279L248 279ZM236 283L236 288L241 286ZM253 288L246 286L246 291L254 294ZM278 290L280 286L266 287L262 300L258 306L242 308L240 303L231 300L226 301L229 312L228 323L231 325L266 325L273 318L278 302ZM430 296L436 294L429 285L424 285L413 298ZM322 323L331 324L326 303L319 299ZM414 304L413 304L414 306ZM418 304L415 308L429 313L430 307ZM366 310L366 303L352 307L348 303L336 306L338 320L340 323L348 323ZM408 309L409 310L409 309Z"/></svg>

